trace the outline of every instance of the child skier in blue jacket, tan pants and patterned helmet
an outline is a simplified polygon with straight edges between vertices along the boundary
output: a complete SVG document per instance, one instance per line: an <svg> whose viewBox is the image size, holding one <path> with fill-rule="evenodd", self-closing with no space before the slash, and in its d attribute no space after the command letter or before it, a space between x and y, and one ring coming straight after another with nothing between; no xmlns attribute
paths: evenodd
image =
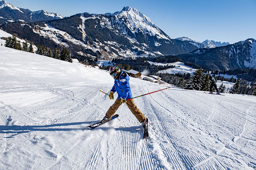
<svg viewBox="0 0 256 170"><path fill-rule="evenodd" d="M118 97L116 98L115 103L112 106L110 106L110 108L106 112L105 117L103 117L101 121L105 122L108 119L110 119L114 115L116 110L119 108L119 106L122 103L126 103L128 108L132 111L132 114L138 119L140 123L142 123L143 128L147 129L148 124L146 121L146 117L134 104L133 99L126 101L126 99L132 98L129 76L125 72L121 71L121 69L118 66L110 67L109 74L115 79L114 86L109 92L109 98L110 100L114 99L115 92L117 92Z"/></svg>

